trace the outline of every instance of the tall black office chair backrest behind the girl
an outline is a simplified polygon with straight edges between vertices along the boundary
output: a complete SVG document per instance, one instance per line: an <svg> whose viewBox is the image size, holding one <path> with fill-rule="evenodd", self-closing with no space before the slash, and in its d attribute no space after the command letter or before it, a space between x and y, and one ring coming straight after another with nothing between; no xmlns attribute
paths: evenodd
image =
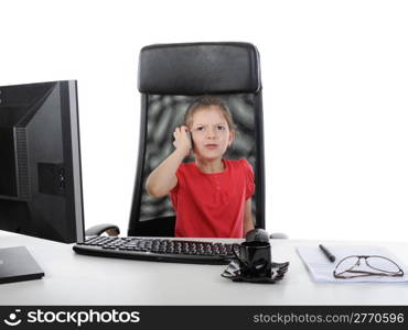
<svg viewBox="0 0 408 330"><path fill-rule="evenodd" d="M237 127L226 158L246 158L255 170L253 219L265 228L262 98L257 48L248 43L183 43L143 47L139 56L141 118L129 235L174 235L170 198L146 193L149 174L174 150L173 131L187 106L216 95ZM186 160L186 162L192 160Z"/></svg>

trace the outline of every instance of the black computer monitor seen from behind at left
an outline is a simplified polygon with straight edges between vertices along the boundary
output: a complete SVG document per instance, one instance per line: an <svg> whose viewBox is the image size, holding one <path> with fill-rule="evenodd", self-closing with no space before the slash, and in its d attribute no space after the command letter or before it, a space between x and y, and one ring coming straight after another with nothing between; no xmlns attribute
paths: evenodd
<svg viewBox="0 0 408 330"><path fill-rule="evenodd" d="M84 240L75 80L0 87L0 230Z"/></svg>

